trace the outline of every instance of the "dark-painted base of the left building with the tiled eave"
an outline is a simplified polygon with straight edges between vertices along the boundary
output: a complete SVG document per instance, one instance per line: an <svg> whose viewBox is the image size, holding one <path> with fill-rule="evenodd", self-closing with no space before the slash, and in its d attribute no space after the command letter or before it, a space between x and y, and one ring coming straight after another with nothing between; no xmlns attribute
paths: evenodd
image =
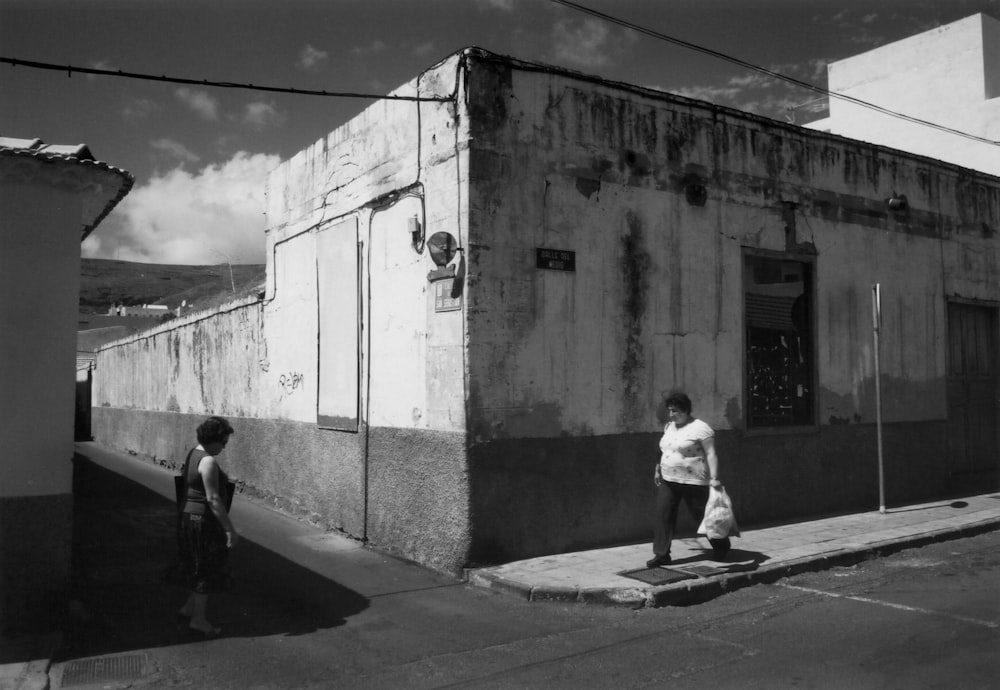
<svg viewBox="0 0 1000 690"><path fill-rule="evenodd" d="M59 629L72 541L72 494L0 498L0 633Z"/></svg>

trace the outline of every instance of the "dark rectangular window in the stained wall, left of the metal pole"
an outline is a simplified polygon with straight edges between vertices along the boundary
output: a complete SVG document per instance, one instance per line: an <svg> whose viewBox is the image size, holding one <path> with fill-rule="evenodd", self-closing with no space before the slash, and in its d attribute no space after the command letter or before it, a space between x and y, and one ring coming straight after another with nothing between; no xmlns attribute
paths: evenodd
<svg viewBox="0 0 1000 690"><path fill-rule="evenodd" d="M812 269L804 261L744 258L747 428L815 423Z"/></svg>

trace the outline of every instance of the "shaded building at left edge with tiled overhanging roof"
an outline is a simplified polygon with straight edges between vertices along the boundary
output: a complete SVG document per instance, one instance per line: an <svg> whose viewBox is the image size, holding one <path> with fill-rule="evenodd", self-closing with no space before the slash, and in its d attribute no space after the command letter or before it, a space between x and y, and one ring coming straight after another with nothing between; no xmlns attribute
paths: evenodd
<svg viewBox="0 0 1000 690"><path fill-rule="evenodd" d="M0 635L65 603L80 242L132 183L86 146L0 137Z"/></svg>

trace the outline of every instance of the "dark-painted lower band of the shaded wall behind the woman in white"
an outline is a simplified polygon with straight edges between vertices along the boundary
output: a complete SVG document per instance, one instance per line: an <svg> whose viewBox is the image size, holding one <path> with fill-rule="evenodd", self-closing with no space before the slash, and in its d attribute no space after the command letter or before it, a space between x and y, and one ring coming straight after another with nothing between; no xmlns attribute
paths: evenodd
<svg viewBox="0 0 1000 690"><path fill-rule="evenodd" d="M888 505L968 493L947 460L945 422L883 428ZM471 560L502 563L652 540L659 433L492 441L470 450ZM877 510L873 425L717 434L721 477L744 526ZM974 491L998 488L981 477ZM681 534L697 522L681 511Z"/></svg>

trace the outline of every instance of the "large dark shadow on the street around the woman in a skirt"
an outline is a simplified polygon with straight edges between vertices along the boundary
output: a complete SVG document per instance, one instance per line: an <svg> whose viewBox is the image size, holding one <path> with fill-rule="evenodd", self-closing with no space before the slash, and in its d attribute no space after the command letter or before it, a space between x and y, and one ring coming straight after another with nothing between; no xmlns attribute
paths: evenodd
<svg viewBox="0 0 1000 690"><path fill-rule="evenodd" d="M175 618L187 592L163 580L176 554L173 502L81 456L73 493L71 603L57 660L204 639ZM209 601L223 638L306 634L368 606L357 592L245 538L231 564L236 588Z"/></svg>

